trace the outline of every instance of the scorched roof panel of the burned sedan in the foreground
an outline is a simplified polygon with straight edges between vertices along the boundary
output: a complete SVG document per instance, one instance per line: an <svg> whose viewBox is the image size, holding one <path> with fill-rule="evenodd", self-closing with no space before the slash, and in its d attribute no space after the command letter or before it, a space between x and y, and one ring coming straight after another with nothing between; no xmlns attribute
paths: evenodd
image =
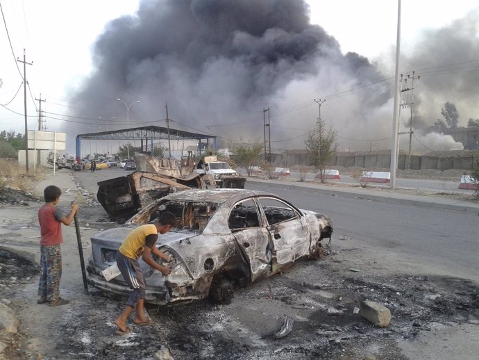
<svg viewBox="0 0 479 360"><path fill-rule="evenodd" d="M163 199L224 203L228 200L236 202L237 200L244 199L245 197L257 195L271 195L276 197L276 195L265 193L264 191L247 189L192 189L167 195Z"/></svg>

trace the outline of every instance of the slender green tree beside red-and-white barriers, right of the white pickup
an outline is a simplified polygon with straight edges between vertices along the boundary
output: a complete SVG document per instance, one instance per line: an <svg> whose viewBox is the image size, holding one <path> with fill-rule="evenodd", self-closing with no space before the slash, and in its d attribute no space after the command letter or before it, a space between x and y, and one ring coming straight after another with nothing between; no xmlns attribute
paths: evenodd
<svg viewBox="0 0 479 360"><path fill-rule="evenodd" d="M326 183L325 170L326 165L333 160L337 152L337 132L332 128L326 129L323 120L317 119L314 130L309 133L305 145L310 155L310 161L317 170L321 183Z"/></svg>

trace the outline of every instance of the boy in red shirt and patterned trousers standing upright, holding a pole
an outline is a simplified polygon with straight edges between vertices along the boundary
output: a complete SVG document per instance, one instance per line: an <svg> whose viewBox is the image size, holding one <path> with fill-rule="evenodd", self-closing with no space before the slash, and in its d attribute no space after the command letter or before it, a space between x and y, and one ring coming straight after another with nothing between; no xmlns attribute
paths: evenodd
<svg viewBox="0 0 479 360"><path fill-rule="evenodd" d="M40 222L40 281L38 284L37 304L49 303L49 306L68 304L68 300L60 297L60 278L62 277L62 253L60 244L63 243L62 224L69 225L74 219L78 204L72 204L72 211L63 215L56 207L62 195L57 186L47 186L43 190L45 204L38 210Z"/></svg>

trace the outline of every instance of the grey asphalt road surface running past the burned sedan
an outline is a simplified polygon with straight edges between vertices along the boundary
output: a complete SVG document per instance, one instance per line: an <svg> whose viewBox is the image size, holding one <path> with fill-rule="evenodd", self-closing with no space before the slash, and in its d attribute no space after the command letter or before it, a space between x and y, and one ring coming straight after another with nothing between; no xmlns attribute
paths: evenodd
<svg viewBox="0 0 479 360"><path fill-rule="evenodd" d="M96 193L96 182L130 173L111 168L94 173L78 172L76 175L88 191ZM424 184L423 188L437 183L428 180L416 182ZM423 264L443 275L478 279L477 213L398 204L394 199L378 202L351 194L346 196L339 188L335 196L331 196L330 191L322 192L291 183L246 181L246 188L276 193L299 208L330 215L335 224L335 241L348 238L358 245L392 252L397 259Z"/></svg>

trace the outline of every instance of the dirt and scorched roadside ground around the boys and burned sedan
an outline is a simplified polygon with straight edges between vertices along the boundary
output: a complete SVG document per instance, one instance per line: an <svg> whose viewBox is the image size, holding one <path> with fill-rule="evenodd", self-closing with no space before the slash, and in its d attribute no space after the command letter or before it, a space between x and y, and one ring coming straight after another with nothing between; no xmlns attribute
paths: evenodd
<svg viewBox="0 0 479 360"><path fill-rule="evenodd" d="M62 202L81 203L87 259L90 236L116 224L73 173L58 179L73 184ZM174 359L476 359L478 284L438 277L407 259L392 266L394 254L347 237L336 237L319 261L301 261L238 290L231 304L148 306L153 325L131 325L130 334L116 336L113 320L123 300L94 289L85 293L72 226L64 228L61 284L71 302L36 304L42 203L36 195L16 196L15 204L0 205L0 297L11 301L21 324L15 336L0 338L10 345L5 359L171 359L168 352ZM381 329L360 318L355 308L362 300L387 306L391 325ZM285 316L294 320L293 332L276 339Z"/></svg>

